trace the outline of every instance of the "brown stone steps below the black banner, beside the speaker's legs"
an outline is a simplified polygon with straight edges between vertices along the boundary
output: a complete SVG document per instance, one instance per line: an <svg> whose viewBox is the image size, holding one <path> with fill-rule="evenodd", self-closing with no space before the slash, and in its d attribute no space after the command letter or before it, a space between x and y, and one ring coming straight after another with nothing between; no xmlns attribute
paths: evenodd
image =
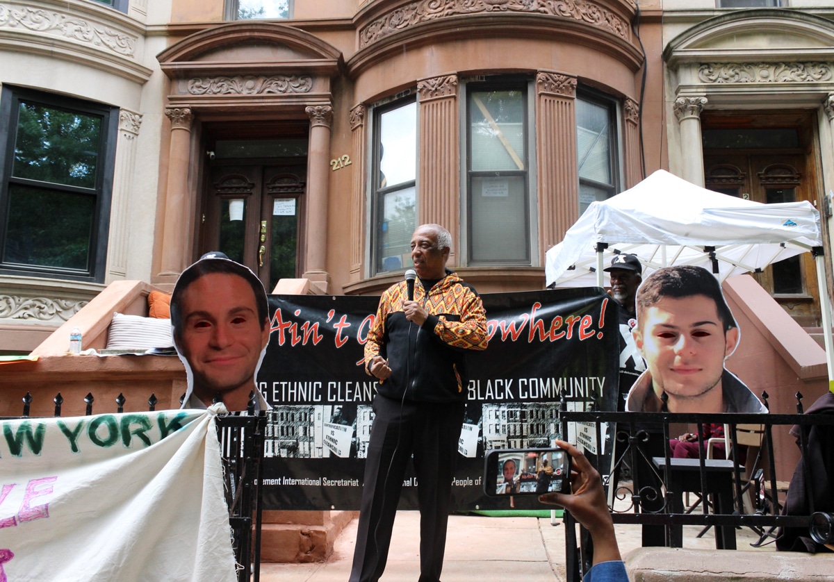
<svg viewBox="0 0 834 582"><path fill-rule="evenodd" d="M324 562L358 511L264 511L261 562Z"/></svg>

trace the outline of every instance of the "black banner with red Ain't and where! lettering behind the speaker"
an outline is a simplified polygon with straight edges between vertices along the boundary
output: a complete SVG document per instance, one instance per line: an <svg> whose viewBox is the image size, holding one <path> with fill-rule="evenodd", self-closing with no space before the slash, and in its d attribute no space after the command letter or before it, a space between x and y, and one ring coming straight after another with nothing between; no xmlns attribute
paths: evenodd
<svg viewBox="0 0 834 582"><path fill-rule="evenodd" d="M472 352L456 509L509 509L483 492L489 449L551 446L561 434L560 399L615 409L619 327L615 302L600 288L482 296L489 348ZM364 343L377 297L269 297L271 335L259 389L269 412L264 459L267 509L359 509L375 379L364 371ZM585 431L591 433L594 431ZM595 447L595 442L585 443ZM610 454L610 453L609 453ZM406 476L400 509L416 509ZM516 509L540 509L535 496Z"/></svg>

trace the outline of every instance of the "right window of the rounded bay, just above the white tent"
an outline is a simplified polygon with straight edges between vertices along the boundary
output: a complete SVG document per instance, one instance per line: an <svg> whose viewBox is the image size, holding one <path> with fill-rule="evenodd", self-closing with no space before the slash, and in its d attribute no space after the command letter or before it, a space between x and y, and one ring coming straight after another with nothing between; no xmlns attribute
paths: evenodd
<svg viewBox="0 0 834 582"><path fill-rule="evenodd" d="M576 153L580 215L594 201L617 193L616 107L601 96L576 96Z"/></svg>

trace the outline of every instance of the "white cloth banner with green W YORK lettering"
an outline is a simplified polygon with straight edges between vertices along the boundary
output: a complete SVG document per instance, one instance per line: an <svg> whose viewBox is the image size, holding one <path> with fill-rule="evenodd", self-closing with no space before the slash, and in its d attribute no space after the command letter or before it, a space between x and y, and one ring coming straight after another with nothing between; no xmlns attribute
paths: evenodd
<svg viewBox="0 0 834 582"><path fill-rule="evenodd" d="M0 582L235 580L224 411L0 421Z"/></svg>

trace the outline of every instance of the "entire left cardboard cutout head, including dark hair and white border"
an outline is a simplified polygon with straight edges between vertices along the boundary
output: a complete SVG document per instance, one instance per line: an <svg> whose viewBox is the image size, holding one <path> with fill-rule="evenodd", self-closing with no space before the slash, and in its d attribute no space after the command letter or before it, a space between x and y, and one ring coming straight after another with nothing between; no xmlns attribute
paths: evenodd
<svg viewBox="0 0 834 582"><path fill-rule="evenodd" d="M269 343L269 308L260 279L224 253L204 254L177 279L171 295L173 343L185 365L183 408L215 400L229 411L269 409L255 374Z"/></svg>

